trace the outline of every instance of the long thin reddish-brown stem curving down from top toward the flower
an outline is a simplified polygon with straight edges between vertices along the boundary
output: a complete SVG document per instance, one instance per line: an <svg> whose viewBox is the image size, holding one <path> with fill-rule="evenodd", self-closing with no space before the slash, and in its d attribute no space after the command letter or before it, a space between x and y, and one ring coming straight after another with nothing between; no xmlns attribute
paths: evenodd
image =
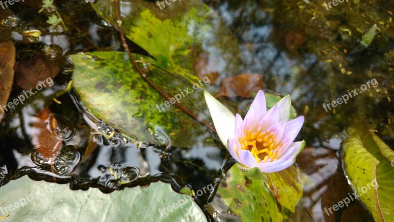
<svg viewBox="0 0 394 222"><path fill-rule="evenodd" d="M150 80L150 78L141 70L141 68L138 66L137 62L134 59L134 56L131 54L131 51L129 49L129 45L126 42L126 38L125 35L123 33L122 30L122 20L120 19L119 16L119 3L118 0L115 0L115 14L116 14L116 22L118 23L118 27L119 27L119 32L120 32L120 37L123 43L123 47L126 49L132 63L134 64L135 68L137 69L138 73L142 76L143 79L145 79L145 81L147 81L153 88L155 88L162 96L164 96L165 99L170 100L171 97L168 96L167 94L165 94L165 92L163 90L161 90L155 83L152 82L152 80ZM196 119L198 122L204 124L206 127L208 127L210 130L212 130L213 132L216 133L215 128L213 128L210 124L208 124L207 122L205 122L203 119L201 119L200 117L198 117L196 114L194 114L193 112L187 110L186 108L184 108L182 105L180 105L179 103L177 103L175 101L175 106L177 106L179 109L181 109L182 111L184 111L186 114L188 114L189 116L191 116L192 118Z"/></svg>

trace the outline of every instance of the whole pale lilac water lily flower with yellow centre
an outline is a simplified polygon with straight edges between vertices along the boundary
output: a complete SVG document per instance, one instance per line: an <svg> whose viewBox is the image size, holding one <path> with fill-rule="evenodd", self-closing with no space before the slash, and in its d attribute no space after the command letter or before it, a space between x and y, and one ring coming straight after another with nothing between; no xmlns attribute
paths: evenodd
<svg viewBox="0 0 394 222"><path fill-rule="evenodd" d="M290 96L267 111L264 92L260 90L242 119L207 91L204 95L220 140L243 170L257 167L263 173L273 173L294 164L305 146L304 141L293 142L304 117L289 121Z"/></svg>

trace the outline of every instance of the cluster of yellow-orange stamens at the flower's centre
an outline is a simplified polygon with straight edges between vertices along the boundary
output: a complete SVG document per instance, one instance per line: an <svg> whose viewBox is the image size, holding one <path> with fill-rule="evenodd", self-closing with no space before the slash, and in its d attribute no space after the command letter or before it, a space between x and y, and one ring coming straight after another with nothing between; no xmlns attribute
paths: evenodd
<svg viewBox="0 0 394 222"><path fill-rule="evenodd" d="M259 163L271 162L283 151L284 142L277 141L277 132L245 129L244 137L239 138L242 149L248 149Z"/></svg>

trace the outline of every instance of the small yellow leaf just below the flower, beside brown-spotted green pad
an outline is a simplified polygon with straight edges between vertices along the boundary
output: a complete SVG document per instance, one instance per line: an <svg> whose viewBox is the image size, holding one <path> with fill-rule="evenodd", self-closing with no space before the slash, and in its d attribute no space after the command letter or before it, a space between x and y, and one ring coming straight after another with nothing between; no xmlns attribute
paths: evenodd
<svg viewBox="0 0 394 222"><path fill-rule="evenodd" d="M268 185L278 202L293 213L302 196L301 173L295 165L276 173L269 173Z"/></svg>

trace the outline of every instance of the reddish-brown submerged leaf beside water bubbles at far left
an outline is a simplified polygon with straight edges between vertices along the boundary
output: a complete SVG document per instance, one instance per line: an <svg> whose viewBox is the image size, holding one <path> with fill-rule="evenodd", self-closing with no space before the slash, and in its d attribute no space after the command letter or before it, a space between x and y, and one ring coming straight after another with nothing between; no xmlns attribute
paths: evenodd
<svg viewBox="0 0 394 222"><path fill-rule="evenodd" d="M35 117L33 146L47 161L52 161L62 148L62 140L57 139L55 133L50 130L58 128L58 122L48 108L39 111Z"/></svg>

